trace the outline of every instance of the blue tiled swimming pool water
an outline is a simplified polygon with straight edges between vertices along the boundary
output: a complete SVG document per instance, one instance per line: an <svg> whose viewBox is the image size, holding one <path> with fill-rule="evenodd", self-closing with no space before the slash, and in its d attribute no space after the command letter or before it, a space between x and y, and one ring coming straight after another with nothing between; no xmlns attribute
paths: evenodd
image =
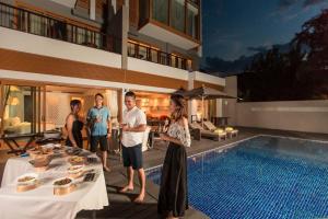
<svg viewBox="0 0 328 219"><path fill-rule="evenodd" d="M148 177L160 184L161 168ZM328 145L256 137L189 158L188 186L210 218L328 217Z"/></svg>

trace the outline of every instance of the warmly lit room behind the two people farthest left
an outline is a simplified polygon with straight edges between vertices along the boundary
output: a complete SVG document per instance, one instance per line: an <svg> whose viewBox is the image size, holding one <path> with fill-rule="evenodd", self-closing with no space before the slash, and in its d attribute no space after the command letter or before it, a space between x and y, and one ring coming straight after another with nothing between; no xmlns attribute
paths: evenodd
<svg viewBox="0 0 328 219"><path fill-rule="evenodd" d="M70 101L82 102L81 116L85 117L94 105L94 95L102 93L104 104L110 108L112 120L118 125L118 97L116 90L71 87L4 85L3 132L12 135L35 134L61 129L70 113ZM44 96L45 95L45 96Z"/></svg>

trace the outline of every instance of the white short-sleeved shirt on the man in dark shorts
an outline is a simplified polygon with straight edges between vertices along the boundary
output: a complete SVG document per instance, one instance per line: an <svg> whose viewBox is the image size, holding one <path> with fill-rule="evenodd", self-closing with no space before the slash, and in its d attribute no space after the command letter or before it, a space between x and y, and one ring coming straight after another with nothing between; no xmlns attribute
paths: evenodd
<svg viewBox="0 0 328 219"><path fill-rule="evenodd" d="M129 127L134 128L140 125L147 125L145 114L134 106L132 110L124 111L122 124L127 124ZM143 131L122 131L121 143L125 147L133 147L142 143Z"/></svg>

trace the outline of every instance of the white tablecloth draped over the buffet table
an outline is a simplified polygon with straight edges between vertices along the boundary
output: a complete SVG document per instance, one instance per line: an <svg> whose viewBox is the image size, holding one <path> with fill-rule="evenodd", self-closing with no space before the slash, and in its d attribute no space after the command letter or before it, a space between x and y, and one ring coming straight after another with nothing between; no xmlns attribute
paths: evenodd
<svg viewBox="0 0 328 219"><path fill-rule="evenodd" d="M36 189L17 193L16 178L34 172L28 158L9 159L0 188L1 219L73 219L80 210L97 210L108 206L104 172L101 162L86 165L96 171L94 182L80 183L77 189L65 196L54 196L52 182L67 175L67 158L54 159L50 169L38 173L40 186Z"/></svg>

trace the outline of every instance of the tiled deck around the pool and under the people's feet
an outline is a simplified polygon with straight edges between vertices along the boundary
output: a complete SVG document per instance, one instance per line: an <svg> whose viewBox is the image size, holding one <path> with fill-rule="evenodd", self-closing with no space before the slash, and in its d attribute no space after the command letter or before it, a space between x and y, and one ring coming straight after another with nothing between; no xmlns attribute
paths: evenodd
<svg viewBox="0 0 328 219"><path fill-rule="evenodd" d="M288 137L296 137L296 138L305 138L305 139L316 139L316 140L328 140L328 135L323 134L308 134L308 132L296 132L296 131L285 131L285 130L268 130L268 129L256 129L256 128L239 128L238 137L233 139L227 139L224 141L213 141L210 139L202 139L201 141L192 141L190 148L187 149L188 155L192 155L196 153L200 153L202 151L207 151L213 148L225 147L229 143L233 143L253 136L257 135L277 135L277 136L288 136ZM161 165L163 163L165 157L166 147L165 145L157 142L155 147L147 152L144 152L144 168L150 169L156 165ZM3 158L2 154L0 157ZM153 219L159 218L156 214L156 203L157 203L157 194L159 186L154 183L147 181L147 197L145 201L142 205L136 205L131 203L137 196L139 187L136 187L134 193L129 194L120 194L117 191L126 183L126 171L122 168L122 164L119 162L119 158L117 155L110 155L110 165L113 171L110 173L106 173L106 183L108 191L108 198L110 206L106 207L103 210L97 211L96 218L110 218L110 219L121 219L121 218L133 218L133 219ZM3 169L0 164L0 173L2 175ZM138 184L137 176L134 176L134 181ZM89 211L82 211L78 215L78 219L83 218L92 218L92 214ZM207 218L202 212L199 212L194 209L189 209L187 211L186 218Z"/></svg>

